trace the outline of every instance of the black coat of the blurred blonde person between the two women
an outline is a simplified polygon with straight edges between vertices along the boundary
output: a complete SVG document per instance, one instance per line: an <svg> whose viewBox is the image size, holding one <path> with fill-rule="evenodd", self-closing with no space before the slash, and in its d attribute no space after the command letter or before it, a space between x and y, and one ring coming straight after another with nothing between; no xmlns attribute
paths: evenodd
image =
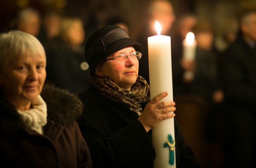
<svg viewBox="0 0 256 168"><path fill-rule="evenodd" d="M46 81L55 86L80 93L90 87L89 68L83 70L85 63L84 47L77 51L71 49L64 41L55 40L51 47L46 47L47 66ZM89 66L88 66L89 67Z"/></svg>

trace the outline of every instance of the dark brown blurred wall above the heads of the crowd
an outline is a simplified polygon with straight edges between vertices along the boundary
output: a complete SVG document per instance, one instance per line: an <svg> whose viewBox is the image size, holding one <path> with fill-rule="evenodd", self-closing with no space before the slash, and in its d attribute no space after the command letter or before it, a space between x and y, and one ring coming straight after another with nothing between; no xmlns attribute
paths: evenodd
<svg viewBox="0 0 256 168"><path fill-rule="evenodd" d="M256 0L171 0L177 18L186 13L194 13L202 20L209 20L217 32L226 26L225 21L237 16L243 9L256 9ZM30 6L41 15L54 10L64 16L78 16L85 24L103 9L102 19L118 15L130 22L130 35L136 38L147 21L150 0L0 0L0 31L7 31L15 24L20 9ZM104 18L105 17L105 18Z"/></svg>

